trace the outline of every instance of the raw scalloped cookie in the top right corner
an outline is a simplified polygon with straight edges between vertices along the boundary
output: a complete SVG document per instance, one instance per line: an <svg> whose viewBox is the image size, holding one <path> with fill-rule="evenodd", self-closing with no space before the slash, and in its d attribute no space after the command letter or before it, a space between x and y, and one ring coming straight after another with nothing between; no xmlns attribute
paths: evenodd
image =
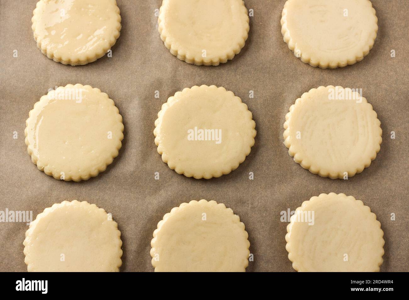
<svg viewBox="0 0 409 300"><path fill-rule="evenodd" d="M295 56L313 67L334 69L369 53L378 18L369 0L288 0L281 26Z"/></svg>

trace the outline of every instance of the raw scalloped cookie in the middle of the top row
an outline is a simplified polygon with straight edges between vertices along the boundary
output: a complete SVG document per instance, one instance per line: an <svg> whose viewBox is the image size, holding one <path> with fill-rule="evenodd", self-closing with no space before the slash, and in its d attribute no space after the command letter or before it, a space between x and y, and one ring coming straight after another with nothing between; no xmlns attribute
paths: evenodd
<svg viewBox="0 0 409 300"><path fill-rule="evenodd" d="M196 65L233 59L249 32L243 0L163 0L157 22L171 53Z"/></svg>

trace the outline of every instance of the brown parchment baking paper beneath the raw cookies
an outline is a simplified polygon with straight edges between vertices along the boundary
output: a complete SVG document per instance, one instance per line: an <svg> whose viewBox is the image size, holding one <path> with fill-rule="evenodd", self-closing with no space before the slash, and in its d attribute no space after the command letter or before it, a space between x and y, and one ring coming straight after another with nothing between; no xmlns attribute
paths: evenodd
<svg viewBox="0 0 409 300"><path fill-rule="evenodd" d="M33 211L35 218L63 200L97 204L119 224L121 271L153 271L150 242L163 215L182 202L216 200L231 207L246 226L254 254L247 271L293 271L285 250L288 223L280 221L280 212L294 210L320 193L345 193L371 207L382 224L381 271L409 271L409 1L373 0L379 25L373 49L362 62L335 70L304 64L288 49L280 25L284 0L245 1L247 9L254 9L249 38L233 60L218 67L194 66L171 55L157 32L155 9L161 0L117 2L122 29L112 58L72 67L48 59L37 48L31 31L35 0L0 1L1 211ZM24 141L25 120L34 103L50 88L76 83L108 93L125 125L119 156L105 172L79 183L38 171ZM200 84L233 91L252 111L257 129L256 144L245 162L211 180L186 178L169 169L153 136L162 103ZM349 180L310 173L293 161L283 144L290 105L302 93L330 84L362 88L382 122L377 158ZM254 98L249 98L250 90ZM155 91L160 91L159 99ZM154 179L155 172L160 180ZM254 180L249 180L249 172L254 172ZM0 223L0 271L27 270L22 245L27 228L22 222Z"/></svg>

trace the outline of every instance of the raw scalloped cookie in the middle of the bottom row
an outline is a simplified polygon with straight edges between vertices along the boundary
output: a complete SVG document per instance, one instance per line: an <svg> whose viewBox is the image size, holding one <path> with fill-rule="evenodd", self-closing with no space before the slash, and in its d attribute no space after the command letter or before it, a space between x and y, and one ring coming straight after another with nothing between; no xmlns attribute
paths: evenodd
<svg viewBox="0 0 409 300"><path fill-rule="evenodd" d="M156 272L244 272L247 238L240 218L224 204L182 203L153 232L152 266Z"/></svg>

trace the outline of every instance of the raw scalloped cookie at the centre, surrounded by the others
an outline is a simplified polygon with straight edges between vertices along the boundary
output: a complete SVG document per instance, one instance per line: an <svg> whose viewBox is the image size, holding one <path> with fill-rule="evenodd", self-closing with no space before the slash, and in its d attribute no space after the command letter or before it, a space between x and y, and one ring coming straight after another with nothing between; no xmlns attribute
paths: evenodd
<svg viewBox="0 0 409 300"><path fill-rule="evenodd" d="M231 91L202 85L175 93L158 113L155 144L169 168L187 177L220 177L249 155L256 123Z"/></svg>

